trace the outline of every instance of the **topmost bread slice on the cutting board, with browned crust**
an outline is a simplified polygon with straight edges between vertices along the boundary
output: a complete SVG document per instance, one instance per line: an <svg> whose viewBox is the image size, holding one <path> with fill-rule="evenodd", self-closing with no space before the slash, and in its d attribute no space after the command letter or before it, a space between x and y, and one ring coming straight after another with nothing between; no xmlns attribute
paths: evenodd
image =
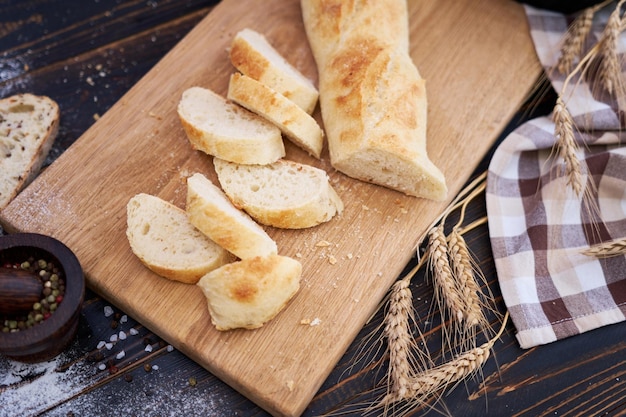
<svg viewBox="0 0 626 417"><path fill-rule="evenodd" d="M230 60L241 73L287 97L308 114L315 110L319 93L313 82L260 33L252 29L237 33L230 46Z"/></svg>

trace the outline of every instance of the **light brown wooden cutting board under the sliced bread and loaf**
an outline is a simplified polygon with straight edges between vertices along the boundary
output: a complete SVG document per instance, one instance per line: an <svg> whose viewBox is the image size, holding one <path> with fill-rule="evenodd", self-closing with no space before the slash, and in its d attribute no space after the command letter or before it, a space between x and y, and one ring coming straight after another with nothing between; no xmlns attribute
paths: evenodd
<svg viewBox="0 0 626 417"><path fill-rule="evenodd" d="M411 53L427 80L428 151L447 177L449 199L352 180L331 169L327 153L315 161L287 143L287 158L329 172L346 208L311 230L268 229L304 273L301 291L265 327L216 331L198 288L159 278L133 256L125 210L140 192L184 207L186 176L216 180L211 159L191 150L176 106L190 86L226 93L234 70L226 49L238 30L265 34L317 78L297 0L223 0L1 213L3 227L65 242L95 291L270 413L301 414L541 71L515 2L409 1L409 8Z"/></svg>

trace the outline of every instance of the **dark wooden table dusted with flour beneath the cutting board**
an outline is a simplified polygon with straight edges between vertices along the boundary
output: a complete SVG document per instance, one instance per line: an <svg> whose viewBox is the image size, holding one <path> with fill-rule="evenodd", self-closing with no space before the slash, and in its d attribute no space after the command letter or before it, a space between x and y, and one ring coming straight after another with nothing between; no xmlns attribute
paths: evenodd
<svg viewBox="0 0 626 417"><path fill-rule="evenodd" d="M59 103L62 123L47 161L52 163L210 13L213 3L0 1L0 97L32 92ZM545 114L551 100L550 92L539 101L529 100L510 128ZM477 174L487 168L488 160L489 155ZM485 216L483 196L468 210L470 218ZM475 229L466 239L489 279L498 309L504 312L487 227ZM436 322L428 316L432 288L423 271L411 288L422 323ZM387 369L379 337L382 320L381 310L363 328L304 415L361 415L380 396ZM438 343L438 328L429 329L428 337ZM482 374L447 393L438 409L455 416L626 415L625 330L624 324L617 324L522 350L509 323ZM109 350L113 344L116 348ZM437 415L429 410L424 405L406 415ZM88 290L78 335L66 352L36 365L0 357L0 416L13 415L267 413L126 316L115 300Z"/></svg>

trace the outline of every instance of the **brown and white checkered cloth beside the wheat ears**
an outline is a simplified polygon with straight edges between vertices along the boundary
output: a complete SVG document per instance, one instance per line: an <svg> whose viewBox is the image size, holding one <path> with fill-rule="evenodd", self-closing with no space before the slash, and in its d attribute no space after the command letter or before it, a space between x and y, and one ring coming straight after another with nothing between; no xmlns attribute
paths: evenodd
<svg viewBox="0 0 626 417"><path fill-rule="evenodd" d="M526 15L537 55L553 87L561 91L564 76L551 68L572 16L528 6ZM588 46L597 42L607 20L608 12L596 15ZM623 53L626 39L620 41ZM626 257L599 259L581 253L589 245L626 236L626 147L620 146L626 134L619 132L623 120L616 103L590 85L580 81L565 99L579 129L584 181L596 189L591 199L578 197L566 184L562 161L552 153L551 117L513 131L489 166L486 198L493 256L522 348L625 319Z"/></svg>

